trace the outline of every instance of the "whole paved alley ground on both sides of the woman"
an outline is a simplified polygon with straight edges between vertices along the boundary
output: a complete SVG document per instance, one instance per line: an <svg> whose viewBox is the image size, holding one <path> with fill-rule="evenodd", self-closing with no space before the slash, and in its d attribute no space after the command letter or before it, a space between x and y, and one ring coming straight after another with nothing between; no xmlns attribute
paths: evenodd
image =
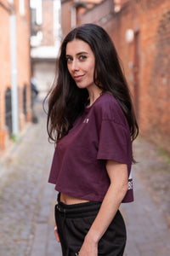
<svg viewBox="0 0 170 256"><path fill-rule="evenodd" d="M61 256L54 239L56 194L47 183L54 146L48 143L41 106L37 103L38 124L28 125L20 143L0 160L1 256ZM139 160L133 167L135 202L122 206L127 223L125 255L167 256L169 161L144 140L134 149ZM161 175L154 166L163 166Z"/></svg>

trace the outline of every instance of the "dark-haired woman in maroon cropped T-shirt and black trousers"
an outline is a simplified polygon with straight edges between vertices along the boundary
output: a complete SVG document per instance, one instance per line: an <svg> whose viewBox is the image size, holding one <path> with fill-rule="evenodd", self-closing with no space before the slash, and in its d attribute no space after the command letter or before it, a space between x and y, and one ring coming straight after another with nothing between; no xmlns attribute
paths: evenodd
<svg viewBox="0 0 170 256"><path fill-rule="evenodd" d="M138 132L111 38L94 24L75 28L61 45L48 102L48 135L56 143L48 182L59 191L54 233L64 256L123 255L118 208L133 201Z"/></svg>

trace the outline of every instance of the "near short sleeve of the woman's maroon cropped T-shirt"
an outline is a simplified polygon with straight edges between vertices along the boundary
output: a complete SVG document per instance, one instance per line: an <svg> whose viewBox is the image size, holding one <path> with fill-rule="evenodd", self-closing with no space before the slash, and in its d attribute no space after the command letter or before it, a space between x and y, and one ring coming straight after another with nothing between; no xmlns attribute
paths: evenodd
<svg viewBox="0 0 170 256"><path fill-rule="evenodd" d="M99 132L98 160L116 160L127 164L127 127L104 119Z"/></svg>

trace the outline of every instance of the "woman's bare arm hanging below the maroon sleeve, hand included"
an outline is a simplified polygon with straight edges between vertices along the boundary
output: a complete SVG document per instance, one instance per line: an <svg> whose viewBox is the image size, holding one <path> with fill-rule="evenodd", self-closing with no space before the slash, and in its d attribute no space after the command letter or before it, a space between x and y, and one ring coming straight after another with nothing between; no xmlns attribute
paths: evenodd
<svg viewBox="0 0 170 256"><path fill-rule="evenodd" d="M111 224L122 199L127 193L127 165L118 163L114 160L108 160L106 170L110 177L111 185L105 195L104 201L101 204L99 213L84 239L79 253L80 256L98 255L98 242Z"/></svg>

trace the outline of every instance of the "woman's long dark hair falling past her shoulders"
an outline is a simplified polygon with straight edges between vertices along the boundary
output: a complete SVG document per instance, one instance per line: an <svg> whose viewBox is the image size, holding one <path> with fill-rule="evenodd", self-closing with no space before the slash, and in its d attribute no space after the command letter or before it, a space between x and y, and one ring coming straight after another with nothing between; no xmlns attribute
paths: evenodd
<svg viewBox="0 0 170 256"><path fill-rule="evenodd" d="M85 24L73 29L65 37L60 48L58 77L48 93L48 136L55 143L64 137L75 119L81 115L88 101L88 90L79 89L67 68L65 58L66 45L80 39L90 46L95 56L94 83L103 92L110 92L119 102L127 118L132 141L138 136L139 127L135 119L133 104L127 81L116 49L105 30L94 24ZM102 84L102 85L101 85Z"/></svg>

